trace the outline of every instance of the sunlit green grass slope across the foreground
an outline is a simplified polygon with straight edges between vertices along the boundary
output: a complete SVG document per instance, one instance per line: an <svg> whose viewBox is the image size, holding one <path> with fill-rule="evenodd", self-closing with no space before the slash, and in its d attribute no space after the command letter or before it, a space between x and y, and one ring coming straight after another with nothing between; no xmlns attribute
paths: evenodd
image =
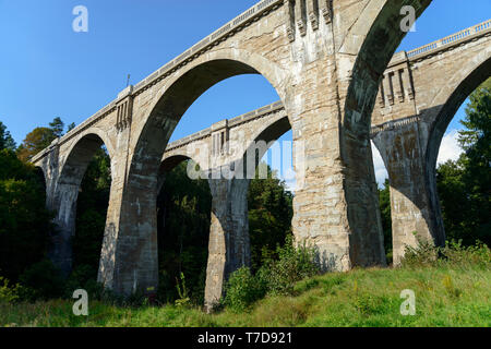
<svg viewBox="0 0 491 349"><path fill-rule="evenodd" d="M400 292L416 293L416 315L403 316ZM0 302L0 326L484 326L491 325L489 265L355 269L300 281L295 296L267 297L244 313L227 309L120 308L89 302L88 316L75 316L70 300Z"/></svg>

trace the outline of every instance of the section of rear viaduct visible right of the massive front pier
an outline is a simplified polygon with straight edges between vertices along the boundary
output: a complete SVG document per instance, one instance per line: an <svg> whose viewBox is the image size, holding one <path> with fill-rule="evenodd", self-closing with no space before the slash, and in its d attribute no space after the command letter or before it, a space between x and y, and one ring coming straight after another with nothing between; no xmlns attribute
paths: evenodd
<svg viewBox="0 0 491 349"><path fill-rule="evenodd" d="M407 55L400 52L384 73L372 137L391 182L395 264L418 238L445 243L436 157L455 112L491 75L490 26L488 21Z"/></svg>

